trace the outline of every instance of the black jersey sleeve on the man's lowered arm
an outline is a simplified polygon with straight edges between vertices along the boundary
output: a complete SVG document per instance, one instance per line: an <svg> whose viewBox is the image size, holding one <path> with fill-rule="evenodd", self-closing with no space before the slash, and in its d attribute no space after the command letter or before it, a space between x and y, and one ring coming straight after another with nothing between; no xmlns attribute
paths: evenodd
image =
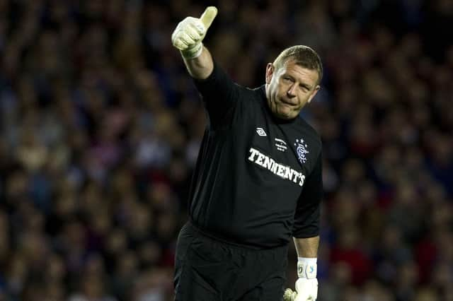
<svg viewBox="0 0 453 301"><path fill-rule="evenodd" d="M322 155L316 160L314 170L307 177L294 214L292 236L296 238L319 235L319 217L323 197Z"/></svg>

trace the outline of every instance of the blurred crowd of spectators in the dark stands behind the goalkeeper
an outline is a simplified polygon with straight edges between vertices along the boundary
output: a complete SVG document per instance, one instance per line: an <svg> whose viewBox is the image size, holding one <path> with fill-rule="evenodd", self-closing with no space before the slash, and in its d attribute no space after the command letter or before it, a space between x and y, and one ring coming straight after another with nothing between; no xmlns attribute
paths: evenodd
<svg viewBox="0 0 453 301"><path fill-rule="evenodd" d="M205 112L170 37L207 4L241 85L323 59L319 301L453 300L449 0L0 0L0 300L172 300Z"/></svg>

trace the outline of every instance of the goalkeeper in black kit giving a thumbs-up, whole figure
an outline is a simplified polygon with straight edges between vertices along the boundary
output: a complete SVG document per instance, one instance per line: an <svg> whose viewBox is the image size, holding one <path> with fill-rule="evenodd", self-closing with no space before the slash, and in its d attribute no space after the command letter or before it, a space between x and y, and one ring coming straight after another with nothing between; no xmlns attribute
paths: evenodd
<svg viewBox="0 0 453 301"><path fill-rule="evenodd" d="M265 85L243 88L202 45L217 15L181 21L171 40L202 95L208 123L178 237L175 300L282 300L291 237L297 295L316 300L322 194L321 139L299 112L319 90L313 49L285 49Z"/></svg>

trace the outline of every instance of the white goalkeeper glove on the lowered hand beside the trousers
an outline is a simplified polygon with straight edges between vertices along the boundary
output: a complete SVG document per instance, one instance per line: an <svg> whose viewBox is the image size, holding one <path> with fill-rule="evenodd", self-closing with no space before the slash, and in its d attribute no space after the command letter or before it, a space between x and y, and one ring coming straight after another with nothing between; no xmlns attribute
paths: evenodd
<svg viewBox="0 0 453 301"><path fill-rule="evenodd" d="M285 290L285 301L315 301L318 297L318 279L316 279L316 258L299 257L297 260L296 291Z"/></svg>

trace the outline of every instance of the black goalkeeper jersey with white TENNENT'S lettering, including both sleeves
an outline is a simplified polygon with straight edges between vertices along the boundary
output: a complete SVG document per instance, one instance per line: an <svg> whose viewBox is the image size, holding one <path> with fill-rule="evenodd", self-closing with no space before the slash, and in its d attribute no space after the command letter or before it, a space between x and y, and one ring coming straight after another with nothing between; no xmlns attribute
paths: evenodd
<svg viewBox="0 0 453 301"><path fill-rule="evenodd" d="M302 118L277 119L264 85L237 85L214 63L195 80L208 121L189 215L217 237L257 248L319 235L321 138Z"/></svg>

